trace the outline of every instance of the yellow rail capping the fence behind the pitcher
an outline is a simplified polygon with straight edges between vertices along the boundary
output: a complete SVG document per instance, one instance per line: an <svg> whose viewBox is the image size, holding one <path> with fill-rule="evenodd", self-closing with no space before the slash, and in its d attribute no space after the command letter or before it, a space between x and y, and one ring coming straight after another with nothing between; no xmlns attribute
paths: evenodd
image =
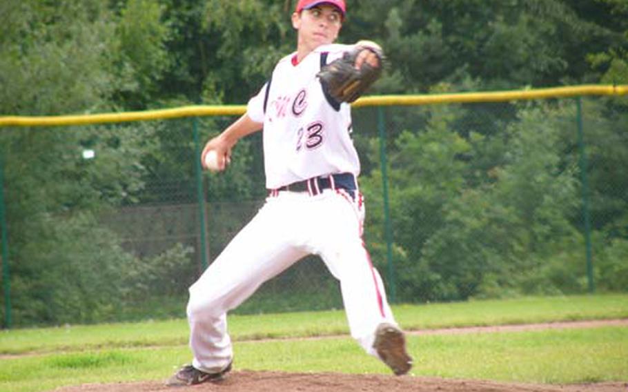
<svg viewBox="0 0 628 392"><path fill-rule="evenodd" d="M362 97L353 104L364 106L418 106L428 104L467 104L473 102L504 102L522 99L580 97L586 95L628 95L628 85L583 85L530 90L463 92L435 95L377 95ZM106 124L127 121L175 119L181 117L242 115L245 105L195 105L141 112L101 113L68 116L2 116L0 126L68 126Z"/></svg>

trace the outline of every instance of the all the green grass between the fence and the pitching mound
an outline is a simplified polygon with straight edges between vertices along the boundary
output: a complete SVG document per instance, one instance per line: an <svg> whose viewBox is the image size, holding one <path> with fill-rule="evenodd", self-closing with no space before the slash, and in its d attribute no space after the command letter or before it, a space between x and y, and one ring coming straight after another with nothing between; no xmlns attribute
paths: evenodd
<svg viewBox="0 0 628 392"><path fill-rule="evenodd" d="M628 295L393 307L405 329L628 318ZM342 311L232 316L237 369L383 373L346 335ZM340 334L340 336L338 336ZM268 337L330 337L263 340ZM0 391L164 380L190 360L185 320L0 333ZM416 376L516 382L628 381L628 328L411 335ZM272 352L273 355L268 355Z"/></svg>

